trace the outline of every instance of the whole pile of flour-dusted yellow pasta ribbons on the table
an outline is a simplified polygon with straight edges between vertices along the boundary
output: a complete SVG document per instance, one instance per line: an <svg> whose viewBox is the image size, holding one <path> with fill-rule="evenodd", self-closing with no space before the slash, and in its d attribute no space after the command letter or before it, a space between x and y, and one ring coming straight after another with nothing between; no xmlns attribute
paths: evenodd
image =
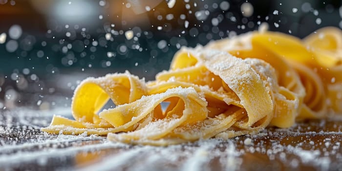
<svg viewBox="0 0 342 171"><path fill-rule="evenodd" d="M303 40L266 31L182 47L155 81L128 71L84 80L75 120L54 116L42 130L166 146L288 128L342 113L341 61L342 32L333 27ZM109 99L116 107L100 111Z"/></svg>

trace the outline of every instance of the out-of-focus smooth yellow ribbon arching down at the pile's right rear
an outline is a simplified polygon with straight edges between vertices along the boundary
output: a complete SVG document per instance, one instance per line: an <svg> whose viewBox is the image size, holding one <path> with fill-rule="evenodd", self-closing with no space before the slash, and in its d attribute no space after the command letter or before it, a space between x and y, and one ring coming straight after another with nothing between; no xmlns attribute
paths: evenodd
<svg viewBox="0 0 342 171"><path fill-rule="evenodd" d="M321 64L315 58L315 54L307 50L299 39L282 33L257 33L252 37L251 41L252 46L258 44L281 56L299 74L300 81L305 88L305 98L303 105L300 107L298 119L324 117L327 114L324 85L321 84L319 74L311 69L321 67Z"/></svg>

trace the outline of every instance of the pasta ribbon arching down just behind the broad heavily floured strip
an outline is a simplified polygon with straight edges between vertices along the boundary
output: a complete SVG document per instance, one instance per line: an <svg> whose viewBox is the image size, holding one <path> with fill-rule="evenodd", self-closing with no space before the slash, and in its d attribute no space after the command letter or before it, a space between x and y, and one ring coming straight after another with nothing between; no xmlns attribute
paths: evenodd
<svg viewBox="0 0 342 171"><path fill-rule="evenodd" d="M304 86L300 82L300 77L294 68L288 62L282 59L279 55L259 45L252 45L250 40L253 34L240 35L233 40L221 40L209 43L205 48L207 49L221 49L230 52L232 55L246 59L256 58L267 62L267 64L260 67L261 70L270 71L270 68L277 68L276 76L270 76L276 83L272 85L275 89L275 113L271 120L271 125L288 128L291 127L299 115L299 110L303 104L305 96ZM253 66L253 65L252 65ZM272 82L271 82L272 83Z"/></svg>

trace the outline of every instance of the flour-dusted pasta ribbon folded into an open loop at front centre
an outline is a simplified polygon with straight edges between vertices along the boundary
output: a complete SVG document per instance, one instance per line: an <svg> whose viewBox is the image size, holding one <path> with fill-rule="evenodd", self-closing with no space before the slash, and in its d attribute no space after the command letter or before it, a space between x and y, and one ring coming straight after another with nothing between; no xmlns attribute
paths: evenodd
<svg viewBox="0 0 342 171"><path fill-rule="evenodd" d="M166 112L160 115L157 114L158 111L153 110L160 109L157 108L157 106L163 101L170 101L172 105L168 107ZM105 118L112 125L120 126L120 124L117 124L118 119L113 116L122 115L122 118L130 120L130 118L127 117L127 113L129 112L132 115L138 114L141 116L134 118L139 121L149 114L152 115L150 122L145 123L144 126L141 126L135 131L121 134L108 134L109 139L130 143L134 140L139 141L141 139L160 139L181 125L192 124L204 120L208 116L206 106L207 102L200 98L192 87L176 87L170 88L163 93L144 96L136 102L104 111L100 113L100 116ZM117 114L118 112L120 114ZM158 116L154 116L155 114ZM131 121L133 121L133 119Z"/></svg>

